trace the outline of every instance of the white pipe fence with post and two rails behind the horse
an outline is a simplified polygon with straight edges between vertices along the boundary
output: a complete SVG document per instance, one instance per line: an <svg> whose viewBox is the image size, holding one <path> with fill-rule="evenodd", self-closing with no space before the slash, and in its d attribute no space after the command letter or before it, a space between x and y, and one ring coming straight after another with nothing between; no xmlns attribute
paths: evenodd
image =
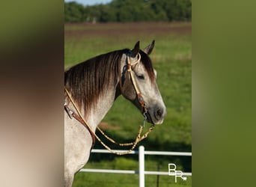
<svg viewBox="0 0 256 187"><path fill-rule="evenodd" d="M116 152L123 152L126 150L115 150ZM110 153L109 150L91 150L91 153ZM144 175L169 175L169 172L164 171L144 171L144 156L145 155L161 155L161 156L192 156L190 152L172 152L172 151L148 151L144 150L144 146L138 147L137 150L132 150L129 154L138 154L138 171L133 170L109 170L109 169L85 169L82 168L80 172L92 173L109 173L109 174L138 174L139 187L144 187ZM183 172L183 176L192 176L192 173Z"/></svg>

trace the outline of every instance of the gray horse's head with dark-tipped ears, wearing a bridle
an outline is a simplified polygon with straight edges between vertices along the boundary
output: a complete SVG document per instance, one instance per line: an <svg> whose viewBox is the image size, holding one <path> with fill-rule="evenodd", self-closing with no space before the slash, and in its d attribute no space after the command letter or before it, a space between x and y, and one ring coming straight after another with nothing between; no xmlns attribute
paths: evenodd
<svg viewBox="0 0 256 187"><path fill-rule="evenodd" d="M156 70L149 57L153 46L154 40L141 50L138 41L126 54L121 76L121 94L141 110L147 122L161 124L166 108L156 84Z"/></svg>

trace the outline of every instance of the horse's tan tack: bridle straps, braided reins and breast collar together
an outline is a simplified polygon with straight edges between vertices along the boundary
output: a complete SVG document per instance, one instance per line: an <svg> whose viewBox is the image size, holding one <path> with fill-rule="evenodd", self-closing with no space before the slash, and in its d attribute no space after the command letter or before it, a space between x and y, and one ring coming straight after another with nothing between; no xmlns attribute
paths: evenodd
<svg viewBox="0 0 256 187"><path fill-rule="evenodd" d="M147 108L146 108L146 103L144 102L143 97L141 96L140 91L138 90L138 86L136 85L134 76L132 74L132 66L135 64L138 64L138 62L141 59L141 55L138 53L138 60L135 61L133 64L130 63L129 58L127 57L127 66L128 66L128 72L129 72L129 76L131 77L132 80L132 85L135 88L135 92L138 96L138 102L141 104L141 110L143 111L143 115L144 115L144 120L142 125L140 126L140 128L138 129L138 135L135 138L135 141L130 142L130 143L124 143L124 144L119 144L117 143L115 140L113 140L112 138L109 138L109 136L107 136L102 129L100 129L100 127L97 126L97 129L100 131L100 133L102 135L105 136L106 139L108 139L109 141L111 141L113 144L118 144L118 146L124 147L124 146L132 146L129 150L124 151L124 152L116 152L114 150L112 150L110 147L108 147L106 144L103 143L103 141L100 140L100 138L95 134L95 132L91 129L91 126L88 125L88 123L85 121L84 117L82 116L81 112L79 111L78 107L76 106L76 103L73 101L72 96L70 95L70 92L67 91L67 88L64 88L64 91L67 93L67 96L69 97L70 101L72 102L73 106L76 108L76 111L78 114L76 114L74 111L72 111L70 108L67 107L67 104L64 103L64 108L67 111L67 114L70 116L70 118L72 119L72 117L74 117L76 120L78 120L80 123L82 123L83 126L85 126L88 131L91 134L91 138L93 141L92 147L95 144L95 137L97 138L98 141L100 141L100 144L103 145L103 147L105 147L107 150L109 150L109 152L114 153L116 155L125 155L130 153L132 150L134 150L134 148L136 147L136 145L138 144L138 142L142 141L144 138L147 138L147 135L154 129L154 126L151 125L150 128L147 130L147 132L144 133L144 135L141 135L142 130L144 129L144 123L145 120L147 120Z"/></svg>

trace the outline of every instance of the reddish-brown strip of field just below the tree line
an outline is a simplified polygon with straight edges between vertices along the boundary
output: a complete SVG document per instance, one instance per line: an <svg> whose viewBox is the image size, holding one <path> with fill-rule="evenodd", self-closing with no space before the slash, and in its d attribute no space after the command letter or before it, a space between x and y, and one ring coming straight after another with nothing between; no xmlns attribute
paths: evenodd
<svg viewBox="0 0 256 187"><path fill-rule="evenodd" d="M192 30L191 22L110 22L110 23L66 23L65 36L120 36L127 34L187 34Z"/></svg>

